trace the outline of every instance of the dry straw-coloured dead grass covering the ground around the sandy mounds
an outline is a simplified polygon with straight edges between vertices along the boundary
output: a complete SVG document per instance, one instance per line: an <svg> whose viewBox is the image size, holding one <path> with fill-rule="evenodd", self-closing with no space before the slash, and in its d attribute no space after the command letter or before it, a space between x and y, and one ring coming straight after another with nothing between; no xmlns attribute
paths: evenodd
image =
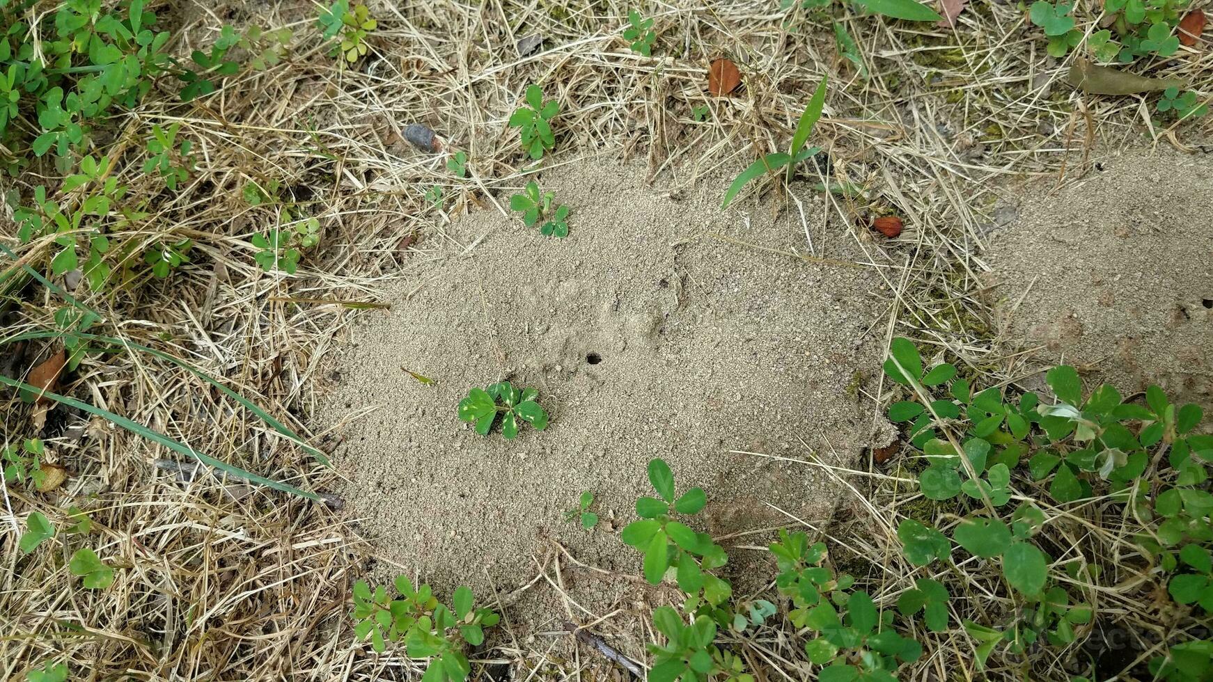
<svg viewBox="0 0 1213 682"><path fill-rule="evenodd" d="M1046 57L1043 40L1013 5L970 6L955 30L842 11L871 73L866 81L836 55L828 24L801 10L779 12L774 1L653 6L653 58L627 48L617 29L632 5L616 0L371 2L380 28L370 53L349 68L317 45L311 2L189 7L171 19L183 36L173 46L180 55L209 45L224 22L289 25L300 38L294 53L267 73L241 75L189 104L172 103L173 85L159 84L147 104L115 121L126 154L114 177L132 195L156 197L152 214L120 236L141 245L188 237L197 247L193 264L169 280L138 275L120 290L84 298L110 321L108 333L222 377L304 437L315 436L307 415L324 385L326 355L355 314L308 299L377 300L386 279L432 258L427 243L451 240L448 220L469 210L501 210L499 195L524 184L529 170L506 121L530 82L541 84L545 97L562 107L557 153L545 160L553 168L548 172L599 154L639 160L679 184L723 187L740 167L786 144L813 84L828 74L826 115L813 143L830 154L832 178L809 179L856 183L867 195L826 195L827 219L853 225L856 216L876 210L906 219L906 231L890 242L852 233L870 257L867 267L877 267L887 283L876 296L888 303L888 336L946 349L968 372L987 376L986 383L1010 379L1014 371L1013 359L991 350L989 311L978 297L987 213L1008 191L998 182L1020 173L1055 176L1067 159L1067 176L1083 173L1093 141L1118 145L1137 138L1143 125L1160 143L1173 144L1207 139L1211 125L1156 130L1149 104L1138 98L1071 92L1061 81L1067 64ZM543 36L542 48L518 57L517 40L533 33ZM741 69L744 87L734 97L706 94L707 64L719 56ZM1208 51L1184 48L1163 69L1198 92L1213 90ZM710 108L706 121L693 121L695 105ZM142 173L131 150L142 145L152 124L178 121L199 164L170 196L161 194L160 180ZM449 149L467 151L471 179L454 178L440 155L404 144L400 131L410 122L433 127ZM55 176L49 166L34 165L6 179L5 189L28 195ZM295 276L266 274L252 260L250 237L278 218L270 208L244 204L240 190L269 178L279 179L284 196L324 228L321 248ZM449 197L440 208L423 199L433 185ZM747 196L744 210L796 210L774 178L752 184ZM821 228L804 225L805 251L830 258ZM418 233L415 243L411 235ZM34 252L18 257L28 260ZM39 296L17 306L7 300L16 321L6 333L52 323L62 302ZM90 356L63 390L262 475L319 491L335 476L232 400L154 357ZM154 468L166 457L163 448L104 422L85 425L62 408L47 415L12 401L5 414L7 442L33 434L45 418L52 458L72 472L57 493L10 486L16 515L24 520L41 511L62 528L68 522L63 509L76 504L91 514L93 531L86 538L56 538L29 557L11 537L0 544L6 567L0 677L23 678L51 659L67 663L74 676L96 680L383 680L420 670L415 661L391 652L376 657L353 641L348 585L365 574L370 557L348 525L353 520L266 491L233 499L212 477L183 489ZM911 514L907 505L923 500L898 476L855 485L856 499L871 500L861 505L867 517L830 533L839 548L850 548L842 554L872 562L869 577L881 585L872 591L889 604L922 572L902 564L888 529ZM1097 509L1093 502L1088 511ZM1098 543L1110 551L1086 554L1087 560L1109 575L1124 571L1116 557L1126 546L1120 533L1128 533L1131 523L1114 533L1098 531L1090 517L1075 518L1074 510L1049 514L1063 546ZM69 550L79 546L91 546L115 568L113 588L86 590L69 575ZM969 572L986 569L964 564L956 579L976 585ZM1100 598L1133 625L1147 604L1129 595L1127 586ZM654 598L660 603L660 594ZM976 588L963 600L957 609L998 606ZM657 603L620 604L628 615L623 621L645 621ZM633 648L621 653L644 660L634 630L602 614L577 620L594 623L608 641L627 638ZM975 675L963 634L921 635L935 643L905 678ZM568 635L559 626L525 642L509 640L503 636L496 652L473 658L509 665L520 680L610 669L591 661L588 652L560 653L568 651L562 648ZM738 646L767 678L799 680L807 671L802 642L799 634L770 629ZM1041 664L1035 676L1053 672Z"/></svg>

